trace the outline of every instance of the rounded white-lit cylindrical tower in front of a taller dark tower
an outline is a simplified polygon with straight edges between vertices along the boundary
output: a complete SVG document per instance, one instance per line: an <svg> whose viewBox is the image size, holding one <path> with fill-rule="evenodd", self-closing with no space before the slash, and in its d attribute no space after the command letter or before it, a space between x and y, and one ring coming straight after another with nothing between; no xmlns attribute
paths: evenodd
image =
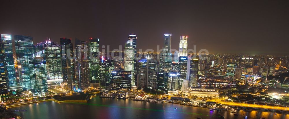
<svg viewBox="0 0 289 119"><path fill-rule="evenodd" d="M135 62L135 49L134 49L134 41L133 39L129 39L125 43L124 49L124 64L125 64L125 71L131 72L131 85L135 85L135 69L136 69L136 62Z"/></svg>

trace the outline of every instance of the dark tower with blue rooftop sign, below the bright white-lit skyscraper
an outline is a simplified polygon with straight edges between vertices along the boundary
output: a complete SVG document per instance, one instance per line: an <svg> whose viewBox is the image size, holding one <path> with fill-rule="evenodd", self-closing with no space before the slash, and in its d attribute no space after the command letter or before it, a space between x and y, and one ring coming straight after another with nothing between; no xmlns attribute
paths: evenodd
<svg viewBox="0 0 289 119"><path fill-rule="evenodd" d="M187 77L187 65L188 65L188 58L186 56L179 57L179 82L178 88L181 89L183 84L183 80Z"/></svg>

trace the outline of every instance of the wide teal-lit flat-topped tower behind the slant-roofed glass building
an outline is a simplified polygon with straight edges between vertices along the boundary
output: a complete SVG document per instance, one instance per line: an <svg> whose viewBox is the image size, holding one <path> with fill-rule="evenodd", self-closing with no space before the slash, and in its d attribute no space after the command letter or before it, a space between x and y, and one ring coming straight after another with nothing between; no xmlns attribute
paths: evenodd
<svg viewBox="0 0 289 119"><path fill-rule="evenodd" d="M15 51L17 57L19 82L23 90L30 89L29 56L35 53L32 37L15 35Z"/></svg>

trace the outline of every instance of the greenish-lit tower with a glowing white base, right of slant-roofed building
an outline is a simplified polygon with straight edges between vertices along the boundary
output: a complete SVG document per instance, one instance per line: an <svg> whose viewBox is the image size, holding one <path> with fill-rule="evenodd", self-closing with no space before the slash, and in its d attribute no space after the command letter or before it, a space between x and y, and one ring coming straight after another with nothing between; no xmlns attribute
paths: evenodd
<svg viewBox="0 0 289 119"><path fill-rule="evenodd" d="M46 42L47 45L45 48L45 61L48 78L47 82L63 82L60 45L56 43L51 43L51 41Z"/></svg>

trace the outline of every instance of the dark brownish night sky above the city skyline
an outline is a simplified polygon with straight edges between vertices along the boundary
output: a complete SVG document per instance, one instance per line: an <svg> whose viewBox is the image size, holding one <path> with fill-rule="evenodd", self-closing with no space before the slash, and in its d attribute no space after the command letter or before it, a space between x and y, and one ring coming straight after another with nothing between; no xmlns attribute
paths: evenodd
<svg viewBox="0 0 289 119"><path fill-rule="evenodd" d="M99 38L110 49L124 45L130 33L137 48L163 47L163 34L180 35L188 48L210 53L289 55L289 1L1 1L0 33L88 41Z"/></svg>

